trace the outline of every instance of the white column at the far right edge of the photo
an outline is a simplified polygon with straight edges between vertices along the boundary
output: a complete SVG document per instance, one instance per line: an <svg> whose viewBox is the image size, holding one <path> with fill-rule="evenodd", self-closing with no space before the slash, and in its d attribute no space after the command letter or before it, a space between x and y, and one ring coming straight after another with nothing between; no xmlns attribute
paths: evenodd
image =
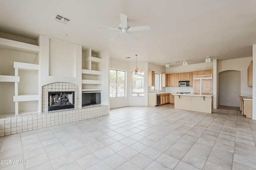
<svg viewBox="0 0 256 170"><path fill-rule="evenodd" d="M256 44L252 45L252 119L256 120Z"/></svg>

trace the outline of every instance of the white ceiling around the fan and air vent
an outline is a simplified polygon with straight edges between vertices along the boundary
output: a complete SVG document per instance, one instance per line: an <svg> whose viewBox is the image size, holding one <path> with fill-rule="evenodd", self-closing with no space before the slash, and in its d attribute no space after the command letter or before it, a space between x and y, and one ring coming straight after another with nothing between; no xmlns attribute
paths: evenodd
<svg viewBox="0 0 256 170"><path fill-rule="evenodd" d="M63 24L56 14L70 19ZM121 35L110 39L120 14L139 41ZM110 50L110 57L164 66L204 63L205 58L252 57L256 44L256 0L0 0L0 31L37 39L39 34L82 45L94 53ZM63 36L67 33L68 36ZM226 51L228 49L228 51ZM131 57L131 59L125 59Z"/></svg>

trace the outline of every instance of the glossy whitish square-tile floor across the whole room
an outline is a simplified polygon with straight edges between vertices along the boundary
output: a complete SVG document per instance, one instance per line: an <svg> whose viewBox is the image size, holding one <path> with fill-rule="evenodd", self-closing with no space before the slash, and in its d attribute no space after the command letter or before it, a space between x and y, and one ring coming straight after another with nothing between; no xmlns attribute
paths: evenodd
<svg viewBox="0 0 256 170"><path fill-rule="evenodd" d="M238 107L222 106L212 114L171 104L122 107L0 137L0 169L251 170L255 142L256 121Z"/></svg>

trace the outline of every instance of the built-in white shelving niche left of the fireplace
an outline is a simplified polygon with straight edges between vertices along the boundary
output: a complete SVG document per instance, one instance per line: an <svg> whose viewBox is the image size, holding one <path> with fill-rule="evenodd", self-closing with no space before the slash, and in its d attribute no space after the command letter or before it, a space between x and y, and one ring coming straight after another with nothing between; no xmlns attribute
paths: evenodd
<svg viewBox="0 0 256 170"><path fill-rule="evenodd" d="M38 52L38 45L0 38L0 117L39 111Z"/></svg>

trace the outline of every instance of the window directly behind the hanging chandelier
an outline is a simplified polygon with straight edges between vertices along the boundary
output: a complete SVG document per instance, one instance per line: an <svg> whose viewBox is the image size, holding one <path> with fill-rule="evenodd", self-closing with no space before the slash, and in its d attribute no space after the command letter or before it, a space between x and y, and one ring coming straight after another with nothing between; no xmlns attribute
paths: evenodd
<svg viewBox="0 0 256 170"><path fill-rule="evenodd" d="M132 97L144 97L144 72L132 75Z"/></svg>

